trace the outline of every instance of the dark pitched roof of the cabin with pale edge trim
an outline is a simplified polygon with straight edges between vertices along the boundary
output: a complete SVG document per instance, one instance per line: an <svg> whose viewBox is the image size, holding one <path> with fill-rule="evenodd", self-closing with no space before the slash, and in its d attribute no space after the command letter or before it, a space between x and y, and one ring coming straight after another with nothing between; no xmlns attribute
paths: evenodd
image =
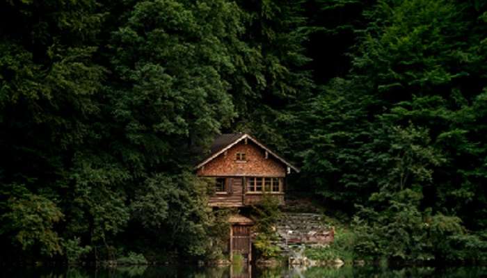
<svg viewBox="0 0 487 278"><path fill-rule="evenodd" d="M281 161L288 167L290 167L292 170L299 172L299 169L297 167L294 167L291 163L287 162L284 158L278 156L276 153L272 152L268 147L264 146L261 142L257 141L255 138L252 136L248 135L247 133L227 133L227 134L221 134L215 138L213 141L213 144L211 145L210 148L210 154L205 158L202 163L198 164L196 166L196 169L202 167L203 165L209 163L209 161L212 161L214 158L219 156L220 154L223 154L227 149L230 149L234 145L237 145L238 142L241 140L244 140L248 138L250 141L254 142L255 145L261 147L262 149L265 149L269 154L274 156L278 161Z"/></svg>

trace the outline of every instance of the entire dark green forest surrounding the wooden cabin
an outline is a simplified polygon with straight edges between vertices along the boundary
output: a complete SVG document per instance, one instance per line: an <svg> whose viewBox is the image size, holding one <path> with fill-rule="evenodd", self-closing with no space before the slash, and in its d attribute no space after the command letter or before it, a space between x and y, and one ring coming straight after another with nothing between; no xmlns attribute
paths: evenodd
<svg viewBox="0 0 487 278"><path fill-rule="evenodd" d="M487 261L485 0L10 0L0 22L3 262L218 256L193 169L239 131L359 258Z"/></svg>

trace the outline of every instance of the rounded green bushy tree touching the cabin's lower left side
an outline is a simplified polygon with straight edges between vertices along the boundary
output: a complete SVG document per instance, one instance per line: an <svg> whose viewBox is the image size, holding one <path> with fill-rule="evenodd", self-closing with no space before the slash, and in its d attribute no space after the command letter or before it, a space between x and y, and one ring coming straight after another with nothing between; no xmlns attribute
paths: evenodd
<svg viewBox="0 0 487 278"><path fill-rule="evenodd" d="M191 173L178 176L157 174L131 204L135 220L152 234L152 244L193 256L211 252L208 236L214 215L207 206L207 183ZM161 236L161 231L167 234Z"/></svg>

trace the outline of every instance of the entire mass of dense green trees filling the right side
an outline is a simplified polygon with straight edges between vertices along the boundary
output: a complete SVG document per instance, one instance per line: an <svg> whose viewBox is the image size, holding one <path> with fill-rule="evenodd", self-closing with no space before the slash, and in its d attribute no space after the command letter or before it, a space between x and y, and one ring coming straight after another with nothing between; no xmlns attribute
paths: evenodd
<svg viewBox="0 0 487 278"><path fill-rule="evenodd" d="M481 242L469 236L485 229L487 206L477 156L485 150L477 133L485 9L481 1L378 1L365 12L349 75L309 104L305 174L331 204L349 213L359 205L362 254L455 261L466 258L454 245Z"/></svg>

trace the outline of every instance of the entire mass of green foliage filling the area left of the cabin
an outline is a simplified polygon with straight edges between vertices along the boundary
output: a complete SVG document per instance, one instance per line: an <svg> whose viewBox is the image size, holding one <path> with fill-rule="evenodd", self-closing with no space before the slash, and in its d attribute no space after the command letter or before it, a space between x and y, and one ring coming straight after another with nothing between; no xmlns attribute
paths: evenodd
<svg viewBox="0 0 487 278"><path fill-rule="evenodd" d="M70 261L77 246L95 260L125 247L218 253L191 170L236 116L230 90L254 51L241 40L246 13L224 0L0 10L0 245L14 254L3 259L62 246Z"/></svg>

